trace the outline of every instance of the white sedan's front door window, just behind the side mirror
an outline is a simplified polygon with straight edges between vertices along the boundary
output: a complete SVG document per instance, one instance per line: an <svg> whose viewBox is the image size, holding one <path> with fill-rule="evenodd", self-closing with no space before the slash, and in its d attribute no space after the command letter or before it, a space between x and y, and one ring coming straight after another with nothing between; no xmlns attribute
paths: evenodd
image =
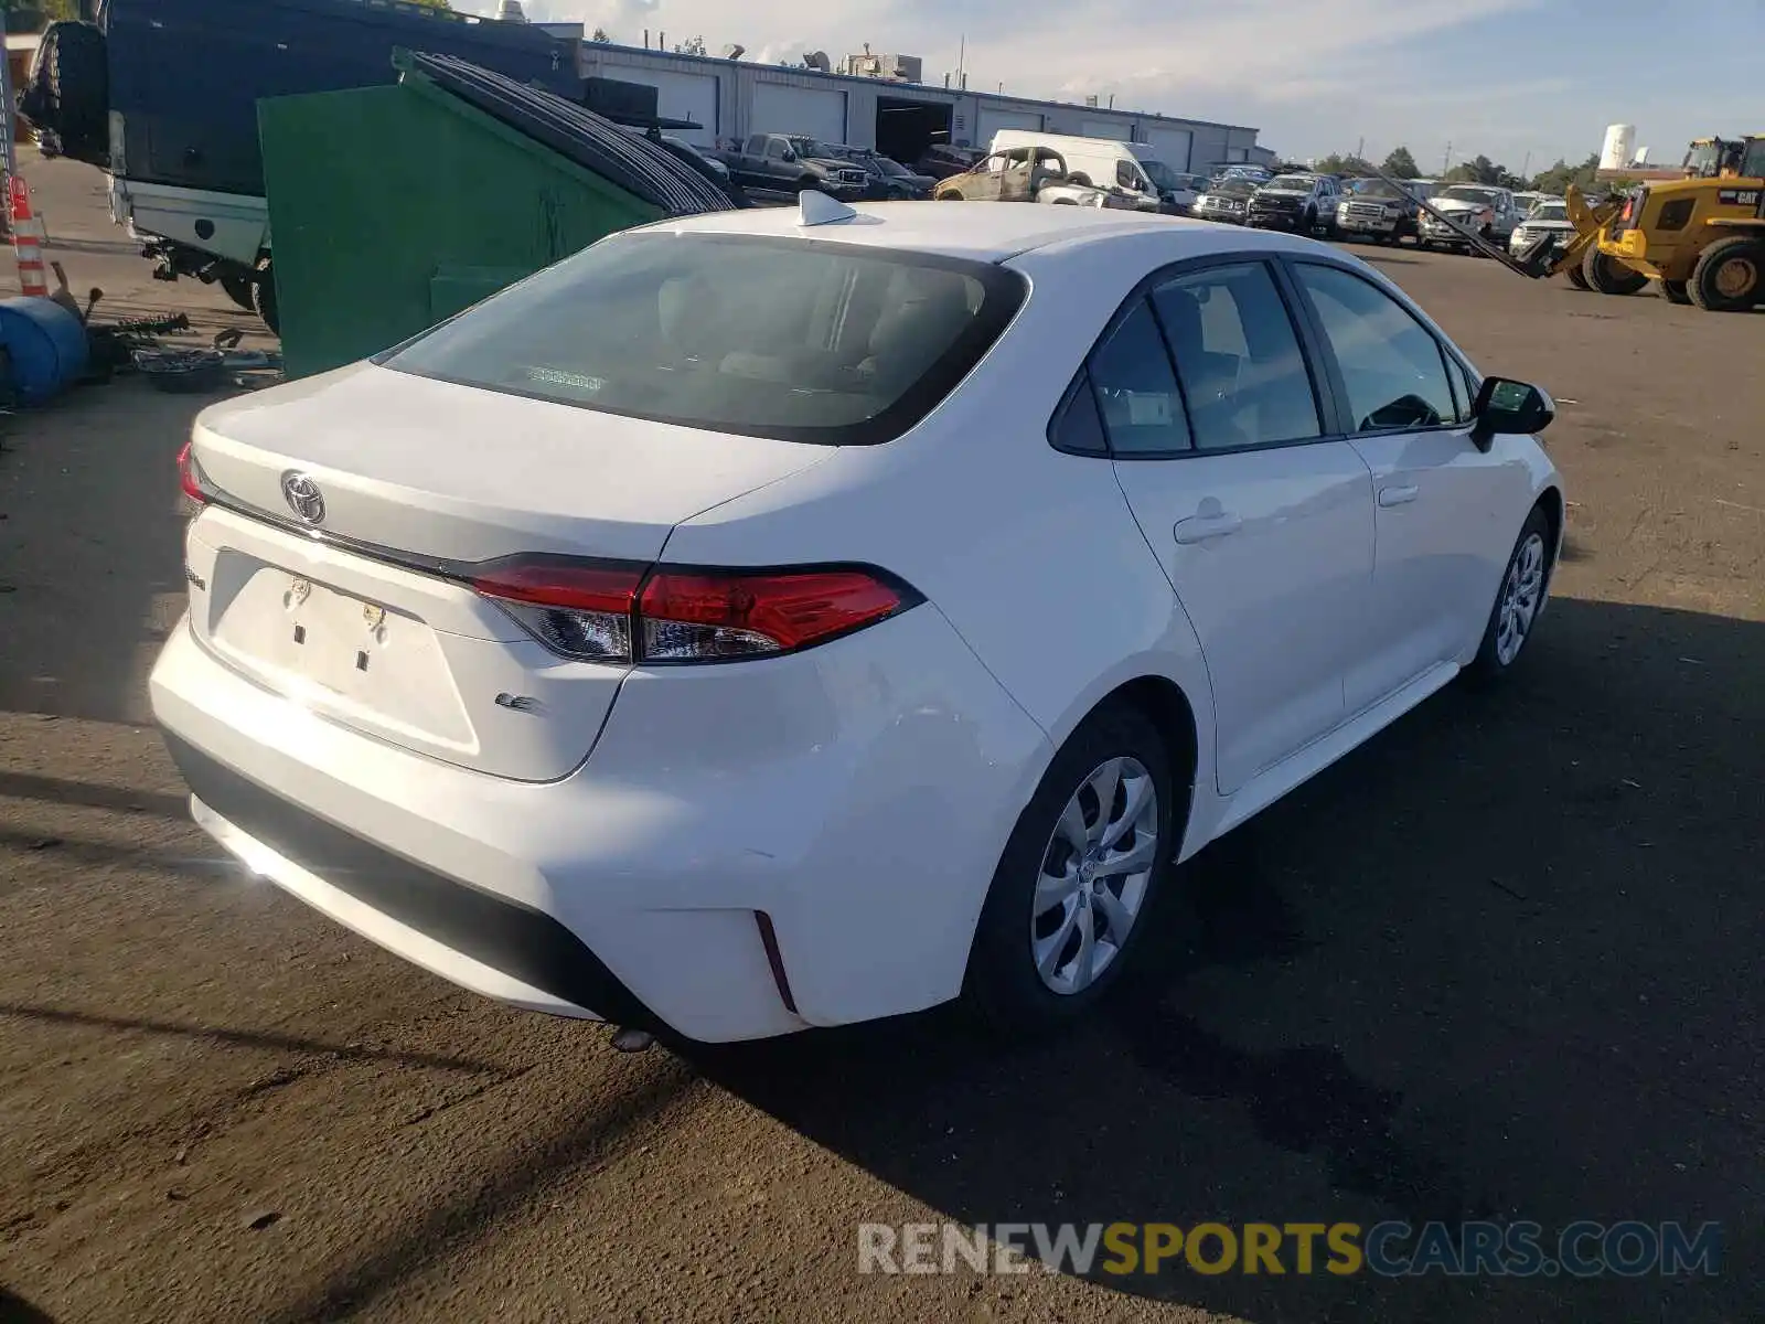
<svg viewBox="0 0 1765 1324"><path fill-rule="evenodd" d="M1354 431L1438 427L1458 417L1440 342L1408 309L1340 267L1296 270L1336 353Z"/></svg>

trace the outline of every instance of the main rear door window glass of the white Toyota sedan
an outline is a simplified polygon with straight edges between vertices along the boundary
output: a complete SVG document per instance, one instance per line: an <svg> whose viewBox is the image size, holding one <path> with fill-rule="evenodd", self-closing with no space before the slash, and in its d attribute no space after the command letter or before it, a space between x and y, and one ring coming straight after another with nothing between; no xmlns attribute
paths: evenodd
<svg viewBox="0 0 1765 1324"><path fill-rule="evenodd" d="M1322 434L1299 337L1262 263L1209 267L1153 293L1188 397L1197 450Z"/></svg>

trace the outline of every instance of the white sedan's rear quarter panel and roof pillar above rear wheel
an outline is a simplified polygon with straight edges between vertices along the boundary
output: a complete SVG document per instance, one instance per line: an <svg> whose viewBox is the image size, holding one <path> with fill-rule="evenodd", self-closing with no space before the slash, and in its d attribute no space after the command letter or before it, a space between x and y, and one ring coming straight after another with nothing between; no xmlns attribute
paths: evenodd
<svg viewBox="0 0 1765 1324"><path fill-rule="evenodd" d="M1209 786L1213 699L1195 632L1110 463L1047 440L1078 364L1137 281L1239 237L1175 219L1158 231L1015 260L1031 281L1024 311L916 429L842 448L680 524L665 560L845 560L893 570L1047 733L1048 754L1112 690L1142 676L1170 680L1195 711L1197 780ZM1020 789L1018 809L1040 773Z"/></svg>

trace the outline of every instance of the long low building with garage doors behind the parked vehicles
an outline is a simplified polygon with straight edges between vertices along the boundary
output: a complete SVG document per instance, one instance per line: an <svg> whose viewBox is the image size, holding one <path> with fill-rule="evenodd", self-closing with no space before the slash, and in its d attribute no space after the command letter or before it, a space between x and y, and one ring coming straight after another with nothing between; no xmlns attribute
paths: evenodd
<svg viewBox="0 0 1765 1324"><path fill-rule="evenodd" d="M655 87L657 113L697 124L697 129L672 132L701 147L755 132L792 132L874 147L911 164L930 143L985 147L999 129L1033 129L1145 143L1147 157L1175 171L1205 171L1267 155L1257 147L1255 129L1211 120L605 42L584 42L581 49L586 78Z"/></svg>

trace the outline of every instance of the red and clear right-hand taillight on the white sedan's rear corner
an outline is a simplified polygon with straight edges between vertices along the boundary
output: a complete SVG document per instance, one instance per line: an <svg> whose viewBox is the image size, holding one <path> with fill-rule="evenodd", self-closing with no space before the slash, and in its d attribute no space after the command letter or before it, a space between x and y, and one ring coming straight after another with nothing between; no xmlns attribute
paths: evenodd
<svg viewBox="0 0 1765 1324"><path fill-rule="evenodd" d="M725 662L789 653L918 602L856 568L685 570L531 556L471 579L554 653L588 662Z"/></svg>

